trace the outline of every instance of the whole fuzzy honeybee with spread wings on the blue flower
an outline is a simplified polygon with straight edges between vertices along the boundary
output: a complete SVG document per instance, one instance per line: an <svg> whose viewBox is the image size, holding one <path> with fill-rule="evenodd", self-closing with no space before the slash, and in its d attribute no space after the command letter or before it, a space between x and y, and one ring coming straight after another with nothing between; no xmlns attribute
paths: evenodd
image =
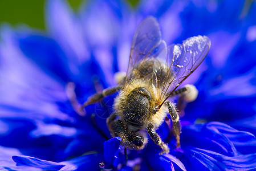
<svg viewBox="0 0 256 171"><path fill-rule="evenodd" d="M125 149L138 150L145 147L149 134L160 146L160 154L169 153L168 145L156 129L169 113L176 146L180 146L179 115L168 99L192 92L193 86L177 87L201 64L209 48L210 39L200 35L188 38L182 44L166 46L161 39L159 23L148 17L133 37L126 76L118 86L91 96L81 109L119 91L113 104L114 111L107 119L112 137L119 136Z"/></svg>

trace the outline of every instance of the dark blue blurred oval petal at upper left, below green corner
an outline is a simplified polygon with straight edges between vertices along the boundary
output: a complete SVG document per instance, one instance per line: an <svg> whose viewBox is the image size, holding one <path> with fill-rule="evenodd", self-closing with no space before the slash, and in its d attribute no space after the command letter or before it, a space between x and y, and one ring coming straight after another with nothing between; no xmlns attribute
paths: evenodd
<svg viewBox="0 0 256 171"><path fill-rule="evenodd" d="M66 83L73 78L66 54L51 38L36 34L22 35L19 47L49 75Z"/></svg>

